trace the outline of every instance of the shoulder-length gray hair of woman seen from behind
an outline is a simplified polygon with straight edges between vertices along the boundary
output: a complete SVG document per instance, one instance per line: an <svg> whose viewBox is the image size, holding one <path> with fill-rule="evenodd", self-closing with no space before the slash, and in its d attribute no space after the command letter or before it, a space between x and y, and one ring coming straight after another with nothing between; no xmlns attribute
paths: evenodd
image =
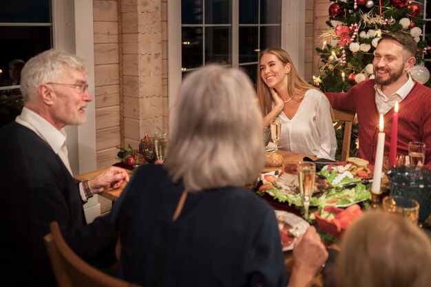
<svg viewBox="0 0 431 287"><path fill-rule="evenodd" d="M207 65L182 82L165 170L188 191L243 187L264 167L262 116L249 77Z"/></svg>

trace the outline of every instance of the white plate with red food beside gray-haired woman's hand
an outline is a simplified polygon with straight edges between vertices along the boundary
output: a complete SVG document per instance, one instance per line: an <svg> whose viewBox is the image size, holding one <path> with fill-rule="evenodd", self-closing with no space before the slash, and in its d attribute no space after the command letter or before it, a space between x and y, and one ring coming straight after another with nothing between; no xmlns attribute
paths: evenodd
<svg viewBox="0 0 431 287"><path fill-rule="evenodd" d="M292 250L297 237L304 234L310 224L301 217L286 211L275 210L275 217L277 218L278 230L282 240L282 250Z"/></svg>

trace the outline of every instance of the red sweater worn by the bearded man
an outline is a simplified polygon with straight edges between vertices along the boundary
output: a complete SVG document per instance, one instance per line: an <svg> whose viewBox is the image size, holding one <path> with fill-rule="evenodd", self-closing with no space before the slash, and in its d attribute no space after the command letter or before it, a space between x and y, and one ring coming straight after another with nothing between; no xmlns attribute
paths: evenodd
<svg viewBox="0 0 431 287"><path fill-rule="evenodd" d="M334 109L355 111L359 124L359 156L375 161L379 111L375 103L374 80L363 81L347 93L326 93ZM385 151L389 151L394 108L383 115ZM425 142L425 164L431 165L431 89L414 82L410 93L399 103L397 152L408 155L408 142Z"/></svg>

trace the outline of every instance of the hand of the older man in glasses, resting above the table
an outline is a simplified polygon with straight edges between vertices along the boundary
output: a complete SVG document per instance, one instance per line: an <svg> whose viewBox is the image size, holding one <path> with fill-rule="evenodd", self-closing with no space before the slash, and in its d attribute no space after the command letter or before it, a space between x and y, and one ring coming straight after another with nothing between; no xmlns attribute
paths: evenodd
<svg viewBox="0 0 431 287"><path fill-rule="evenodd" d="M129 174L125 169L109 167L106 171L88 181L92 193L101 193L109 187L118 189L124 182L129 182Z"/></svg>

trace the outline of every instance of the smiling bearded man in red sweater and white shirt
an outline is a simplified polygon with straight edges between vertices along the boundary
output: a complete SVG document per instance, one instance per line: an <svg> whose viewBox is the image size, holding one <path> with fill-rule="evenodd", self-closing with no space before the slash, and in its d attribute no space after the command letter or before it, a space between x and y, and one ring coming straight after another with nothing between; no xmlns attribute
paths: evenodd
<svg viewBox="0 0 431 287"><path fill-rule="evenodd" d="M425 142L425 165L431 164L431 89L414 81L413 67L417 43L410 34L383 34L374 53L374 80L363 81L347 93L326 93L334 109L354 111L359 124L359 156L374 164L383 114L385 151L392 137L392 114L399 103L397 152L408 155L408 142Z"/></svg>

